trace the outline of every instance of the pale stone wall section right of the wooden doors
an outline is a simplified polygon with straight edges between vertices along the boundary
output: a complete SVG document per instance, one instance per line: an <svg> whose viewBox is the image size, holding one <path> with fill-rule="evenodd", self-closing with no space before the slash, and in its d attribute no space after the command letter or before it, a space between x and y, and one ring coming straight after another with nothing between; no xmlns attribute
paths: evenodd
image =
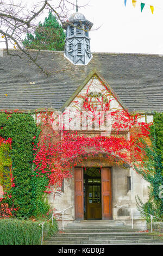
<svg viewBox="0 0 163 256"><path fill-rule="evenodd" d="M139 196L143 203L148 200L149 183L133 169L112 168L112 217L131 224L131 210L136 227L146 229L146 222L142 220L136 208L135 196ZM127 177L131 176L131 190L128 191ZM121 208L115 206L121 206ZM124 208L122 208L124 207ZM126 209L129 208L129 209Z"/></svg>

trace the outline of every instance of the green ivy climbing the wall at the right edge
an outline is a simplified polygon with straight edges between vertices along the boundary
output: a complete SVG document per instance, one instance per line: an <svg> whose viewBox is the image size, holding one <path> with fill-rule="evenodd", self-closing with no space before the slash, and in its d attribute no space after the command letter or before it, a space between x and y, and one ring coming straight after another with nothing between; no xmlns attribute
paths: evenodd
<svg viewBox="0 0 163 256"><path fill-rule="evenodd" d="M143 174L143 178L151 184L149 200L144 204L139 197L136 198L137 208L142 212L142 216L146 218L147 222L151 222L151 218L149 215L143 214L143 212L148 212L148 214L160 218L163 216L163 198L159 196L160 187L163 185L163 113L154 113L151 141L152 147L145 144L149 172ZM138 173L142 173L141 169L135 169ZM154 218L154 221L158 221L158 219Z"/></svg>

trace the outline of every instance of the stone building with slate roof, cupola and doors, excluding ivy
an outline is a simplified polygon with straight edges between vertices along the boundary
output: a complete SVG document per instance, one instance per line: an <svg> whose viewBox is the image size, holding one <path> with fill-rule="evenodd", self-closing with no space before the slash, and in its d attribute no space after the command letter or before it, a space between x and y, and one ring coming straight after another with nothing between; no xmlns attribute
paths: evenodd
<svg viewBox="0 0 163 256"><path fill-rule="evenodd" d="M27 58L8 56L2 50L0 106L4 111L19 109L33 113L50 109L63 113L89 86L90 92L104 90L112 95L112 109L140 113L151 123L153 112L163 111L162 57L156 54L91 53L89 30L92 23L84 15L72 15L65 23L65 52L31 50L49 76L43 75ZM16 50L10 50L15 53ZM90 84L91 83L91 84ZM85 132L87 136L94 134ZM95 131L98 134L98 131ZM122 135L129 137L129 131ZM99 168L102 166L101 172ZM84 172L85 170L85 172ZM77 183L80 184L78 190ZM61 196L49 196L54 208L65 213L66 221L121 220L130 223L131 210L137 225L143 221L136 209L135 196L148 199L148 184L129 166L112 166L103 152L83 159L73 169L73 178L64 180Z"/></svg>

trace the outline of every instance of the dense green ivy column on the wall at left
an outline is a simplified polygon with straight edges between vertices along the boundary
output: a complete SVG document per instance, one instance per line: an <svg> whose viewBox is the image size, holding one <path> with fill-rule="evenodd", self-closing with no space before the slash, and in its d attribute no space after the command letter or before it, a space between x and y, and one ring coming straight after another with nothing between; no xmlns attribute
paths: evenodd
<svg viewBox="0 0 163 256"><path fill-rule="evenodd" d="M33 165L33 137L37 126L30 114L0 113L0 136L12 138L11 162L12 176L15 187L11 187L11 198L8 204L14 202L17 217L32 215L32 165Z"/></svg>

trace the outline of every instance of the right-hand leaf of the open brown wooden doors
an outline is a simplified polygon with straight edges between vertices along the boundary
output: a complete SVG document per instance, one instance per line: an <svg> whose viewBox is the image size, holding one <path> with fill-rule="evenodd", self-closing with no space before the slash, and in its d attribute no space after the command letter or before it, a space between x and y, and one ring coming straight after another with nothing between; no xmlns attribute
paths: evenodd
<svg viewBox="0 0 163 256"><path fill-rule="evenodd" d="M111 170L102 168L102 220L111 220L112 217L112 199L111 199Z"/></svg>

